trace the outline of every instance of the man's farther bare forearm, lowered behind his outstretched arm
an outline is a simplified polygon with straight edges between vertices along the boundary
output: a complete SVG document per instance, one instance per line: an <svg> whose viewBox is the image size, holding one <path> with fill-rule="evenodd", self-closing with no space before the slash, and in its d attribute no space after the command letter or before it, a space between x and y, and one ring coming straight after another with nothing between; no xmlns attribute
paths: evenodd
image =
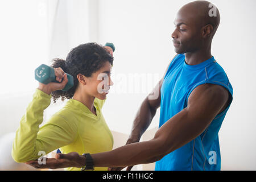
<svg viewBox="0 0 256 182"><path fill-rule="evenodd" d="M156 109L150 106L148 97L145 98L134 119L129 139L139 140L144 131L146 131L148 126L150 126L155 113Z"/></svg>

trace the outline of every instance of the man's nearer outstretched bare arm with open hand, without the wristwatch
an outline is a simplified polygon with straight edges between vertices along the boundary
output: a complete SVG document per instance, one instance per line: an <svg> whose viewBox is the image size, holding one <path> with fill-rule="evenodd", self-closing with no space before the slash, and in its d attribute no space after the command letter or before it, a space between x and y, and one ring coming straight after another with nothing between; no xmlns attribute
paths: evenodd
<svg viewBox="0 0 256 182"><path fill-rule="evenodd" d="M198 137L210 125L214 117L228 102L229 93L222 86L200 85L188 99L188 106L169 119L156 132L155 137L147 142L137 142L116 148L113 151L92 154L95 167L123 167L136 164L152 163L163 156L184 146ZM59 160L52 160L46 166L35 164L40 168L72 167L85 165L82 155L74 152L61 154ZM57 157L57 158L59 158Z"/></svg>

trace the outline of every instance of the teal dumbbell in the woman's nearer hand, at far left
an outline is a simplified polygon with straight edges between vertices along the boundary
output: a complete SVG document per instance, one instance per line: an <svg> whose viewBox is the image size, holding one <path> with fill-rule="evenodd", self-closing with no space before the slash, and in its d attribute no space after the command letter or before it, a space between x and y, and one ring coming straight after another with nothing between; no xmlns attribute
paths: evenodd
<svg viewBox="0 0 256 182"><path fill-rule="evenodd" d="M67 92L74 85L73 76L69 75L68 73L66 74L68 76L68 83L62 89L64 92ZM46 64L42 64L35 69L35 79L46 85L49 84L49 82L59 83L59 81L56 80L54 68L49 67Z"/></svg>

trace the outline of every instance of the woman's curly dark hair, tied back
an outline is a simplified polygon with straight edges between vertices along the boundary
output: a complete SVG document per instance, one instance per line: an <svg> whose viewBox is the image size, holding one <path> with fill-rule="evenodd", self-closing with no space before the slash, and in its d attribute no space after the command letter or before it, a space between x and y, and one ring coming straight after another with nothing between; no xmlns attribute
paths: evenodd
<svg viewBox="0 0 256 182"><path fill-rule="evenodd" d="M97 43L81 44L68 53L66 60L55 58L52 60L53 68L62 68L65 73L72 75L74 78L74 85L67 92L56 90L51 93L53 102L61 97L64 101L66 98L71 99L76 91L79 81L77 75L81 73L86 77L92 76L92 73L101 69L106 61L113 65L113 57L106 51L106 49Z"/></svg>

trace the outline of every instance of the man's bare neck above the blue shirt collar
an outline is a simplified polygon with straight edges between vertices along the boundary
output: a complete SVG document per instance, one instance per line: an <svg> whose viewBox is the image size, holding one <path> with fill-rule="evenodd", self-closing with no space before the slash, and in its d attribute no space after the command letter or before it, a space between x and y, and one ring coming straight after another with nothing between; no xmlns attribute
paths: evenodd
<svg viewBox="0 0 256 182"><path fill-rule="evenodd" d="M212 53L210 53L210 51L201 50L197 52L185 53L185 62L188 65L197 65L210 58L212 58Z"/></svg>

